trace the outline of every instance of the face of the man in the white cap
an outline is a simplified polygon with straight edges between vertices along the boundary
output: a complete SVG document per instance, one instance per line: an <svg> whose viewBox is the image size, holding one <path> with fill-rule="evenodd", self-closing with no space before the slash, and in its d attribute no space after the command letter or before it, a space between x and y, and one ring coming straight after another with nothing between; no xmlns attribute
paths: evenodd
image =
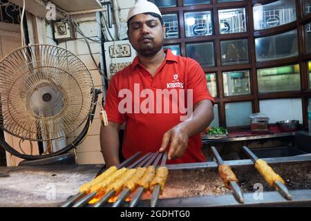
<svg viewBox="0 0 311 221"><path fill-rule="evenodd" d="M139 14L129 22L129 41L138 54L153 57L163 47L165 27L152 15Z"/></svg>

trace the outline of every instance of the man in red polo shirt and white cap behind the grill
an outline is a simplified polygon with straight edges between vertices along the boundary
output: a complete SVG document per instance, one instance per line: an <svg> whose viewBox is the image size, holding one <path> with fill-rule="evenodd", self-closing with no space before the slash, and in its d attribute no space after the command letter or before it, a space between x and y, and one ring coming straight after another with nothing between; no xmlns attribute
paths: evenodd
<svg viewBox="0 0 311 221"><path fill-rule="evenodd" d="M128 16L129 41L138 56L111 78L106 94L109 125L101 127L100 144L107 166L120 164L124 122L125 158L168 151L171 164L205 161L199 133L214 118L214 99L196 61L163 50L164 35L160 10L139 0Z"/></svg>

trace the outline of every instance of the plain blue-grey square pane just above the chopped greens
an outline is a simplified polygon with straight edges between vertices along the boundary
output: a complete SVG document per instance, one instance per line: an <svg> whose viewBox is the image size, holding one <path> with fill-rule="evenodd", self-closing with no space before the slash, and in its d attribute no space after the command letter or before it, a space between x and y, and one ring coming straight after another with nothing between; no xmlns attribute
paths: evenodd
<svg viewBox="0 0 311 221"><path fill-rule="evenodd" d="M249 125L252 114L252 102L234 102L225 104L227 126Z"/></svg>

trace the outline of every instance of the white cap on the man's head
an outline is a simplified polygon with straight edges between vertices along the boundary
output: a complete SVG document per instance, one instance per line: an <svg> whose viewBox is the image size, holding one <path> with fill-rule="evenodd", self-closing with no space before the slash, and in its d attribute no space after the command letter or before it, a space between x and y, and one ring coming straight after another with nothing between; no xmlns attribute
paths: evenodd
<svg viewBox="0 0 311 221"><path fill-rule="evenodd" d="M138 0L137 3L135 3L135 5L132 8L130 8L129 15L127 15L127 21L129 21L129 19L131 19L131 17L135 15L146 12L153 12L162 17L159 8L154 3L147 0Z"/></svg>

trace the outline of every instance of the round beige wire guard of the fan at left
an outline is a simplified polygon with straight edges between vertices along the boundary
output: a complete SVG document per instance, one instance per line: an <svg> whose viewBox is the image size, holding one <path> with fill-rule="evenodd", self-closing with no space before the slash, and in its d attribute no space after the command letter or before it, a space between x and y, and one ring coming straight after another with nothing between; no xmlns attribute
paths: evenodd
<svg viewBox="0 0 311 221"><path fill-rule="evenodd" d="M77 130L91 113L91 73L72 52L31 45L0 61L0 127L23 140L47 141Z"/></svg>

